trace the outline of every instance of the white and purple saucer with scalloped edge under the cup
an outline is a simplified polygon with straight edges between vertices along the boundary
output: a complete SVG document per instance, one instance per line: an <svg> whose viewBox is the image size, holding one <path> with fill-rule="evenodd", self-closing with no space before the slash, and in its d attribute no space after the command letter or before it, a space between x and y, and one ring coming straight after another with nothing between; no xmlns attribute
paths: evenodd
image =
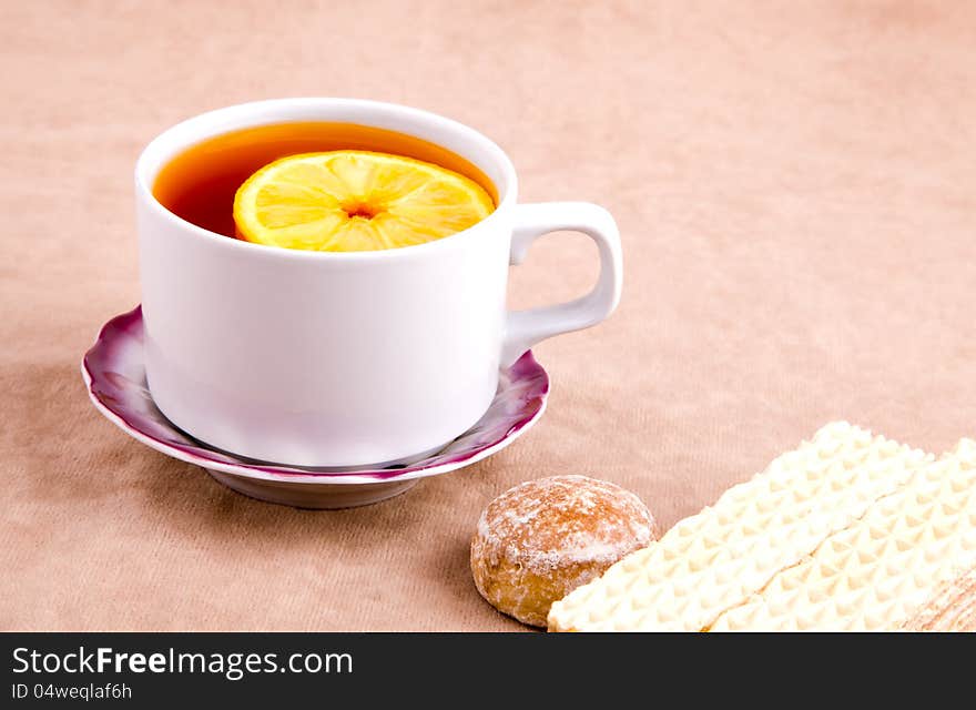
<svg viewBox="0 0 976 710"><path fill-rule="evenodd" d="M235 456L194 439L166 419L146 387L141 306L102 327L84 355L81 374L99 412L134 439L205 468L237 493L298 508L378 503L420 478L479 462L528 430L542 416L549 394L549 376L529 351L499 372L498 392L485 416L436 453L384 468L307 468Z"/></svg>

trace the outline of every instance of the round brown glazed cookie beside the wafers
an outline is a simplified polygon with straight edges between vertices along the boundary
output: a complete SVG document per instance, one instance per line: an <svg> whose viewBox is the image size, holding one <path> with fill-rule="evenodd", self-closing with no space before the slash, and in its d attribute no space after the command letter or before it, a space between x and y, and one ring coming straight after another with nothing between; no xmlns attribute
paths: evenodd
<svg viewBox="0 0 976 710"><path fill-rule="evenodd" d="M475 586L499 611L546 626L553 601L654 540L634 494L587 476L552 476L488 504L471 539Z"/></svg>

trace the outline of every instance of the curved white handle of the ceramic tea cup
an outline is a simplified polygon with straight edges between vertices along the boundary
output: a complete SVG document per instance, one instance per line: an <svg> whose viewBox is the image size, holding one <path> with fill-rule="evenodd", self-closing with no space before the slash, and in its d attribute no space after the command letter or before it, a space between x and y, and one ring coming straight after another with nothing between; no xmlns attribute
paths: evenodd
<svg viewBox="0 0 976 710"><path fill-rule="evenodd" d="M623 282L620 232L610 213L589 202L542 202L516 206L510 264L521 264L529 246L549 232L581 232L600 250L600 277L581 298L553 306L509 311L501 364L508 367L532 345L547 337L596 325L617 307Z"/></svg>

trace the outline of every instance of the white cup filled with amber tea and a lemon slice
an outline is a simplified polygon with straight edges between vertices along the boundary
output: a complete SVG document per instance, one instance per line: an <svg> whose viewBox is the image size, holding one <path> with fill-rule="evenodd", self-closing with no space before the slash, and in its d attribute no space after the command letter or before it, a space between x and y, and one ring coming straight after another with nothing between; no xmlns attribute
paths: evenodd
<svg viewBox="0 0 976 710"><path fill-rule="evenodd" d="M363 175L377 171L399 178L364 192ZM252 179L261 189L247 193ZM620 297L606 210L517 204L501 149L416 109L350 99L220 109L153 140L135 183L152 397L192 436L254 459L348 467L436 450L484 415L500 366L599 323ZM444 194L397 202L411 187ZM562 230L597 243L597 286L506 312L509 264Z"/></svg>

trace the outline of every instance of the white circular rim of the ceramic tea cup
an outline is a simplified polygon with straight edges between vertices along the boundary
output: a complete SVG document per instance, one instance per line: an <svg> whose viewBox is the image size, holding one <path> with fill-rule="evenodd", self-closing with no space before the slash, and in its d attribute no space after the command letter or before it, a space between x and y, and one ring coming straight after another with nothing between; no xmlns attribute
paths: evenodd
<svg viewBox="0 0 976 710"><path fill-rule="evenodd" d="M293 250L268 246L266 244L255 244L245 242L244 240L228 239L224 234L212 232L202 226L193 224L187 220L171 212L152 192L151 179L154 178L165 160L172 160L173 156L199 143L202 140L214 138L233 130L240 130L251 126L266 125L276 122L288 122L288 118L278 118L277 120L261 120L262 115L268 113L315 110L315 109L340 109L347 111L365 110L374 111L383 115L399 115L414 122L421 122L431 125L434 129L440 129L457 135L467 143L478 145L482 151L490 155L495 162L497 172L501 173L502 185L496 184L499 199L495 211L487 217L472 224L466 230L456 232L449 236L445 236L423 244L414 244L410 246L400 246L397 248L363 251L363 252L317 252L311 250ZM253 114L256 116L254 122L248 122L246 116ZM238 123L243 119L243 123ZM315 120L315 119L302 119ZM323 119L327 120L327 119ZM349 121L355 123L356 121ZM221 124L234 123L221 129ZM387 128L378 124L377 128ZM399 129L390 129L399 130ZM407 132L407 131L400 131ZM424 140L430 140L425 136ZM437 142L437 141L434 141ZM450 150L450 149L449 149ZM455 151L457 152L457 151ZM162 154L162 155L161 155ZM471 160L467 158L467 160ZM484 170L485 165L478 161L471 160L479 169ZM154 172L150 175L151 168ZM204 113L196 114L180 123L176 123L162 133L152 139L135 161L135 192L140 202L145 204L155 215L170 222L171 224L190 232L199 237L210 240L214 244L221 244L224 248L243 250L242 253L251 252L255 256L264 255L268 258L294 258L294 260L321 260L321 261L374 261L374 260L396 260L420 256L423 253L434 252L443 248L449 248L453 244L469 237L472 233L486 230L505 219L505 213L515 204L518 183L515 166L511 160L491 139L481 132L455 121L446 116L415 109L397 103L385 101L373 101L369 99L346 99L346 98L326 98L326 97L298 97L291 99L266 99L262 101L248 101L237 103L221 109L214 109Z"/></svg>

